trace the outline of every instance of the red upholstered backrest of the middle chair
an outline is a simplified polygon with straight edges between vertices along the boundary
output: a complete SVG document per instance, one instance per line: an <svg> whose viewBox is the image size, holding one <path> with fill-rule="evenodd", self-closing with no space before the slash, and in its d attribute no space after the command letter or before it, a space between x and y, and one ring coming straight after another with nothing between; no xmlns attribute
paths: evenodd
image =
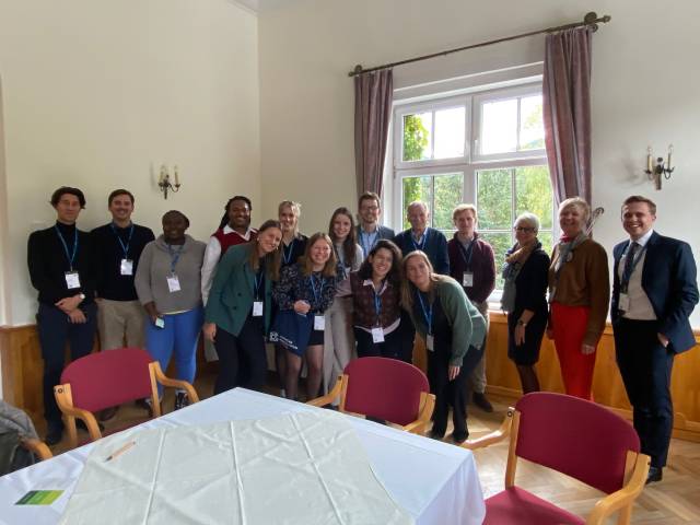
<svg viewBox="0 0 700 525"><path fill-rule="evenodd" d="M345 410L396 424L415 421L420 411L420 394L430 392L425 374L396 359L355 359L345 373L349 377Z"/></svg>

